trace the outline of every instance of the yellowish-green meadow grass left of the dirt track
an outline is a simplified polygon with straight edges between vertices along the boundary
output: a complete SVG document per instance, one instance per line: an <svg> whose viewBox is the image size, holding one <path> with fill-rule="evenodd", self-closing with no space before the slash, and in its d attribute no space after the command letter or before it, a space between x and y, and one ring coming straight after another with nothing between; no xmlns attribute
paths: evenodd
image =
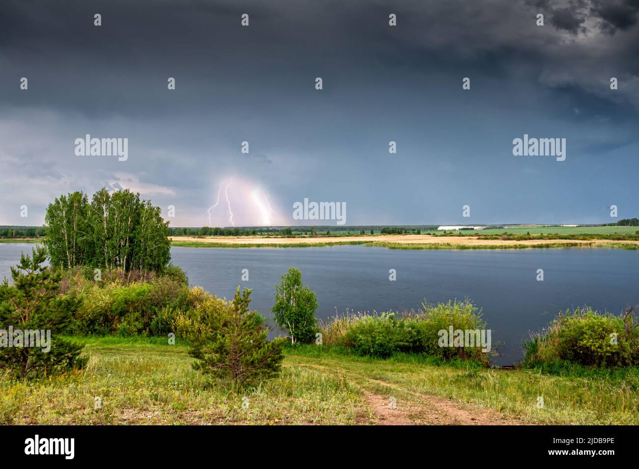
<svg viewBox="0 0 639 469"><path fill-rule="evenodd" d="M340 376L285 366L279 378L238 391L194 371L184 344L75 339L86 344L88 369L38 383L0 380L0 424L353 424L364 411Z"/></svg>

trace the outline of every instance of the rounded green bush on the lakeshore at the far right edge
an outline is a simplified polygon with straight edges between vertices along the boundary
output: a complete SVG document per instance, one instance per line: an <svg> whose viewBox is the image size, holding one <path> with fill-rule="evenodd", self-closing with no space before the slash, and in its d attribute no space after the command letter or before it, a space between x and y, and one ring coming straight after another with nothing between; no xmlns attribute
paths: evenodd
<svg viewBox="0 0 639 469"><path fill-rule="evenodd" d="M566 362L581 366L615 368L639 365L639 324L635 308L621 316L599 314L592 308L566 311L548 331L532 334L525 342L528 367Z"/></svg>

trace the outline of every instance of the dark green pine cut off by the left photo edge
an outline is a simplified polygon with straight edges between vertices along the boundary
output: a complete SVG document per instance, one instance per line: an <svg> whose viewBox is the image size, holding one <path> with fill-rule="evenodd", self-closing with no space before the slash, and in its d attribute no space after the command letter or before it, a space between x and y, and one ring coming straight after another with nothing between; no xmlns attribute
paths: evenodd
<svg viewBox="0 0 639 469"><path fill-rule="evenodd" d="M47 249L40 246L33 249L31 258L22 253L17 268L11 267L13 285L6 278L0 285L0 369L15 378L81 369L87 361L80 357L82 346L59 336L70 325L80 300L57 294L61 274L43 267L46 258ZM12 338L8 337L10 329ZM20 341L17 331L22 335ZM27 331L38 331L40 344L32 343L33 336L29 340Z"/></svg>

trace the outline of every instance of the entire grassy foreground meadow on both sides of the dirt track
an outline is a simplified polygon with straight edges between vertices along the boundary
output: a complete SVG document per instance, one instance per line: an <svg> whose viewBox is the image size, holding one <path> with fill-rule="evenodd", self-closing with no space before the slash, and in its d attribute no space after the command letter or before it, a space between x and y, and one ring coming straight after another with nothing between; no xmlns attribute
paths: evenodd
<svg viewBox="0 0 639 469"><path fill-rule="evenodd" d="M287 350L279 378L237 390L193 371L184 343L75 339L91 357L85 371L36 383L0 378L0 424L374 424L368 393L395 396L415 423L449 423L445 415L430 418L427 403L438 396L522 423L639 424L636 369L553 376L417 355L383 361L307 346ZM94 408L96 397L102 408Z"/></svg>

